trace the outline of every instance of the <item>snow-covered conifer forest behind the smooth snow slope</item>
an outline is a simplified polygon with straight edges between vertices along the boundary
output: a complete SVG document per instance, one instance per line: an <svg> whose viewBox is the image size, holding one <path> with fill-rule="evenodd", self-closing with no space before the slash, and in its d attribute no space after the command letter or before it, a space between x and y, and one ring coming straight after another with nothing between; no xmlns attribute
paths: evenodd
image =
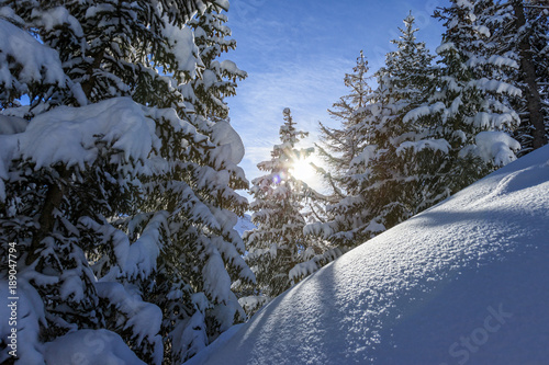
<svg viewBox="0 0 549 365"><path fill-rule="evenodd" d="M544 0L450 0L428 49L411 12L383 67L357 49L314 146L280 111L248 181L227 0L1 0L0 363L96 364L100 349L101 363L183 364L535 153L549 138L548 15ZM325 191L294 173L310 155Z"/></svg>

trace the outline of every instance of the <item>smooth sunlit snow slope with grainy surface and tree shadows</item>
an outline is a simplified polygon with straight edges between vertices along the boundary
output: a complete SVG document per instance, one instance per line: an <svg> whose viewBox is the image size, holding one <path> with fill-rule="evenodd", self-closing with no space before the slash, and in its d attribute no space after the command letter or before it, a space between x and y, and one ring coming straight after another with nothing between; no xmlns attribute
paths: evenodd
<svg viewBox="0 0 549 365"><path fill-rule="evenodd" d="M542 364L549 146L334 261L188 364Z"/></svg>

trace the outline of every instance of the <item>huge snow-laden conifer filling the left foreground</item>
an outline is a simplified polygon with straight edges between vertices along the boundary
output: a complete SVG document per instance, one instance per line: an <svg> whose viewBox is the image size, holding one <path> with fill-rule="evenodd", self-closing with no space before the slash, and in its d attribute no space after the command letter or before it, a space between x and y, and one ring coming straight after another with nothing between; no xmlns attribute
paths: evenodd
<svg viewBox="0 0 549 365"><path fill-rule="evenodd" d="M189 102L204 64L184 23L208 7L227 3L1 2L1 288L16 259L18 363L99 329L152 364L164 338L182 361L233 323L231 282L253 281L232 229L243 147ZM166 300L178 307L163 316Z"/></svg>

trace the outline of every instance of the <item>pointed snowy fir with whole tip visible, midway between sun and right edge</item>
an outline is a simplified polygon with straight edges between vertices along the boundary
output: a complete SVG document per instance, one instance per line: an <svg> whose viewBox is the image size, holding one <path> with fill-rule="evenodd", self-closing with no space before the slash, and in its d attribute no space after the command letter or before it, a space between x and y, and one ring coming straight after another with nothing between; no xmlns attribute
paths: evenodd
<svg viewBox="0 0 549 365"><path fill-rule="evenodd" d="M404 116L418 106L432 81L432 60L425 43L416 39L415 19L404 19L401 36L391 41L397 49L376 72L378 88L365 107L360 130L368 144L351 163L352 194L365 197L363 223L377 231L389 229L433 205L429 196L433 155L438 141L425 128ZM382 226L382 227L381 227ZM377 231L365 232L370 236Z"/></svg>

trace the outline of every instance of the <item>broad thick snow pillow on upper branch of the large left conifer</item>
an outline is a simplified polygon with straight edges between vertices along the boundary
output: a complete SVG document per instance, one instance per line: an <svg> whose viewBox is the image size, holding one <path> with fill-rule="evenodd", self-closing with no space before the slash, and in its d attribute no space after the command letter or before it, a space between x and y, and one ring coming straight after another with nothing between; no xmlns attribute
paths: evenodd
<svg viewBox="0 0 549 365"><path fill-rule="evenodd" d="M154 121L130 98L56 107L33 118L19 141L22 157L35 162L36 169L57 162L83 169L96 161L100 142L134 161L144 161L159 147Z"/></svg>

